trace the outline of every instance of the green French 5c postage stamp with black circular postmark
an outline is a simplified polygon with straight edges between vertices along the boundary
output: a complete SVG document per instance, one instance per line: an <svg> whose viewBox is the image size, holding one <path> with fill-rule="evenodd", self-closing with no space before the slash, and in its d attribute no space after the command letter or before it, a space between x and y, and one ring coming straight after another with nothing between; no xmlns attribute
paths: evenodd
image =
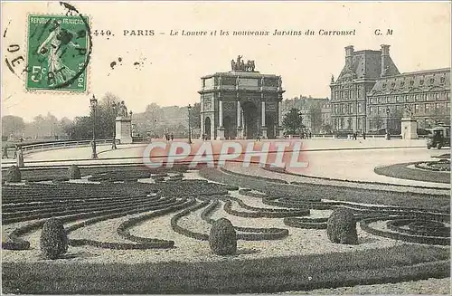
<svg viewBox="0 0 452 296"><path fill-rule="evenodd" d="M28 91L87 91L89 20L80 15L28 15Z"/></svg>

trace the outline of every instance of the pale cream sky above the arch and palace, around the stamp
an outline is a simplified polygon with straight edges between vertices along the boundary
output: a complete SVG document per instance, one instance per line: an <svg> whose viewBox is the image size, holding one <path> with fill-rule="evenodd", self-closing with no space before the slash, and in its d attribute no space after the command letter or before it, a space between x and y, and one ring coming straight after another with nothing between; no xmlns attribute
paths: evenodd
<svg viewBox="0 0 452 296"><path fill-rule="evenodd" d="M231 70L231 59L254 60L261 73L282 76L285 98L299 94L330 97L331 75L344 66L344 47L380 50L391 45L400 72L450 67L449 2L71 2L91 17L93 36L89 93L27 93L24 77L9 72L2 60L2 115L26 121L51 112L72 119L89 112L89 98L110 91L142 112L146 105L187 105L199 101L200 77ZM61 14L57 2L2 3L2 53L26 59L27 14ZM155 30L155 36L124 36L124 30ZM314 36L272 36L278 30L315 31ZM356 30L354 36L320 36L320 29ZM377 36L376 29L392 35ZM229 31L229 36L170 36L170 30ZM231 36L234 30L268 30L269 36ZM160 34L165 33L165 34ZM21 46L8 53L11 43ZM122 58L122 65L118 58ZM116 61L115 70L110 62ZM134 62L144 62L140 67Z"/></svg>

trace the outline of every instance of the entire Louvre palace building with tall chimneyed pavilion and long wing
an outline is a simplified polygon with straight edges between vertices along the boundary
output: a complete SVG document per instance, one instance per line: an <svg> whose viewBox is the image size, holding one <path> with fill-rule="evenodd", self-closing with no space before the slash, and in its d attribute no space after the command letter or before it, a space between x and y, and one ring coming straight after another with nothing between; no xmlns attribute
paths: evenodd
<svg viewBox="0 0 452 296"><path fill-rule="evenodd" d="M380 51L354 52L345 47L345 65L332 77L331 119L336 131L400 132L403 110L409 108L419 128L450 122L450 68L400 74L390 45Z"/></svg>

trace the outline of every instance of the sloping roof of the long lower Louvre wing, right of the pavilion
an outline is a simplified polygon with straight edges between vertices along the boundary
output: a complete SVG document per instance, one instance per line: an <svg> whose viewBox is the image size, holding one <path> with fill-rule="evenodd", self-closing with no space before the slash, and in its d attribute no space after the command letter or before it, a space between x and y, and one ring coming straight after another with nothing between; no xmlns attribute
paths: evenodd
<svg viewBox="0 0 452 296"><path fill-rule="evenodd" d="M369 95L425 91L450 91L450 68L382 77L369 91Z"/></svg>

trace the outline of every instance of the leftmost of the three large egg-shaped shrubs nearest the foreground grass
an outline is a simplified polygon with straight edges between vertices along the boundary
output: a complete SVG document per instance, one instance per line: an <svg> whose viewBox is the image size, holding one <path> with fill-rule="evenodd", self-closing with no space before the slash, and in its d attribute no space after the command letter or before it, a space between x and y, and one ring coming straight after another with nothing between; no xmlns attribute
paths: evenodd
<svg viewBox="0 0 452 296"><path fill-rule="evenodd" d="M51 218L42 225L40 245L47 259L56 259L68 251L68 234L60 219Z"/></svg>

